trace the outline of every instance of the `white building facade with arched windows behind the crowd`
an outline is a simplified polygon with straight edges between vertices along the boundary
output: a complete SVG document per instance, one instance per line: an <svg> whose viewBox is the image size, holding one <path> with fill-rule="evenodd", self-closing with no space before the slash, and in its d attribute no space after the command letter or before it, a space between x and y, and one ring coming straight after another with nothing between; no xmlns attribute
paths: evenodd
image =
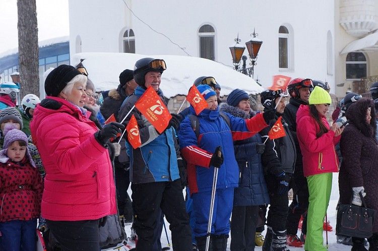
<svg viewBox="0 0 378 251"><path fill-rule="evenodd" d="M359 3L356 5L356 2ZM347 25L342 26L345 22L341 24L340 20L348 17L345 14L348 10L354 10L345 7L362 5L364 13L370 13L366 16L370 19L367 32L371 32L376 26L376 2L69 0L70 53L188 55L232 67L229 47L233 46L237 35L241 44L250 40L255 29L263 44L254 77L263 87L272 84L273 75L311 78L327 81L331 92L341 97L349 80L346 78L348 53L340 52L358 38L348 34L343 28ZM366 34L366 31L358 33L359 36ZM375 53L365 53L368 76L378 75ZM166 63L169 68L169 61ZM353 65L348 69L357 68ZM340 86L341 83L345 84ZM237 83L234 85L237 88Z"/></svg>

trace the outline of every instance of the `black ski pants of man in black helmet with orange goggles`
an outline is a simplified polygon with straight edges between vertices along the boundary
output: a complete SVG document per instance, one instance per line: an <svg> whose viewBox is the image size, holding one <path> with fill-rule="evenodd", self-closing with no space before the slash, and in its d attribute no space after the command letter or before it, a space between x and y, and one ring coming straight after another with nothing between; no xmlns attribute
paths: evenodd
<svg viewBox="0 0 378 251"><path fill-rule="evenodd" d="M138 234L138 251L150 251L154 245L161 211L169 222L173 250L192 250L189 216L185 210L180 179L131 185L134 227ZM155 233L156 236L156 233Z"/></svg>

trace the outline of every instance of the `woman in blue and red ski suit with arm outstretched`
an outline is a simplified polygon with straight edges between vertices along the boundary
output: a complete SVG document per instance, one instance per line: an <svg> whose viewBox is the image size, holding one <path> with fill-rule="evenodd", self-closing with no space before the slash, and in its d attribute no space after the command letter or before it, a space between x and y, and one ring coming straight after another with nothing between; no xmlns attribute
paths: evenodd
<svg viewBox="0 0 378 251"><path fill-rule="evenodd" d="M197 86L208 106L198 115L190 106L191 114L180 124L178 134L182 156L187 162L190 195L196 218L194 234L200 251L205 250L210 235L209 250L225 251L230 231L229 219L233 206L233 193L238 186L239 168L233 151L233 140L247 139L263 128L274 117L275 110L258 114L249 119L219 112L217 96L209 85ZM191 116L198 119L198 137L192 126ZM215 154L221 149L222 154ZM213 179L219 168L213 191ZM212 197L215 192L215 197ZM214 199L211 234L208 233L210 202Z"/></svg>

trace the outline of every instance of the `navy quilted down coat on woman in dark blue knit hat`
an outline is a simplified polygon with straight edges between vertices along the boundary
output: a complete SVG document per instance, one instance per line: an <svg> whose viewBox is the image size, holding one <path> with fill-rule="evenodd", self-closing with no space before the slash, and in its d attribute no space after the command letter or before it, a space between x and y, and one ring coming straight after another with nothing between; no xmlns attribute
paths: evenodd
<svg viewBox="0 0 378 251"><path fill-rule="evenodd" d="M253 112L247 115L237 107L226 103L222 103L219 109L244 119L255 115ZM259 206L270 203L261 154L256 152L256 144L261 143L260 134L234 141L235 158L239 166L239 186L235 188L234 206Z"/></svg>

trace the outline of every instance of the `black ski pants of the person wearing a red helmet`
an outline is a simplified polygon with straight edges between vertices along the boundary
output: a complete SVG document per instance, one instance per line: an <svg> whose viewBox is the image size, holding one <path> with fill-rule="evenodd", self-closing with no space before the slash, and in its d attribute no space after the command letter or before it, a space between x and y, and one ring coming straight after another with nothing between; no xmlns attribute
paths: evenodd
<svg viewBox="0 0 378 251"><path fill-rule="evenodd" d="M296 167L302 168L302 167ZM296 169L297 170L297 169ZM289 206L287 214L286 228L287 234L295 235L298 231L298 223L300 216L303 215L302 233L307 232L307 217L305 212L308 208L308 185L307 179L303 176L303 172L294 173L293 183L293 201Z"/></svg>

